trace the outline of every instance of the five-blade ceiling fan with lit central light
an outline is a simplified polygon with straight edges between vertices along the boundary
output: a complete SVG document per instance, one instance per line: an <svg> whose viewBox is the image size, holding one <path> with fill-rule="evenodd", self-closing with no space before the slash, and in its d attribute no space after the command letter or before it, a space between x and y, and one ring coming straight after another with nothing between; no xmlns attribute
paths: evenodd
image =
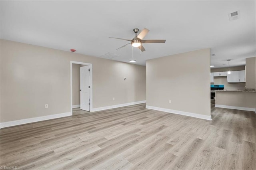
<svg viewBox="0 0 256 170"><path fill-rule="evenodd" d="M144 28L138 36L137 36L137 33L139 32L139 29L134 28L133 31L135 33L135 37L132 40L124 39L124 38L116 38L116 39L129 41L130 43L128 43L126 45L132 44L133 47L138 47L141 51L146 50L143 47L142 43L165 43L165 41L166 41L166 40L142 40L149 32L149 30L146 28ZM114 37L109 37L109 38L114 38ZM126 45L123 45L122 47L125 47ZM118 49L120 49L122 47L119 47ZM116 49L116 50L118 50L118 49Z"/></svg>

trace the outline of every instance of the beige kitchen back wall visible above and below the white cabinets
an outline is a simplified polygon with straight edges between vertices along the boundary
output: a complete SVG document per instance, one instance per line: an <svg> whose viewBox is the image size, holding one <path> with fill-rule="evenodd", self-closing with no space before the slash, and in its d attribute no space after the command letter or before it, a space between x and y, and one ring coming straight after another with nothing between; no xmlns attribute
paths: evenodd
<svg viewBox="0 0 256 170"><path fill-rule="evenodd" d="M230 71L240 71L240 70L245 70L244 65L238 66L238 67L230 67ZM211 69L211 72L221 72L221 71L228 71L228 67ZM244 90L245 89L245 83L227 83L226 76L214 77L214 83L211 83L211 84L224 85L225 90L230 90L230 89Z"/></svg>

